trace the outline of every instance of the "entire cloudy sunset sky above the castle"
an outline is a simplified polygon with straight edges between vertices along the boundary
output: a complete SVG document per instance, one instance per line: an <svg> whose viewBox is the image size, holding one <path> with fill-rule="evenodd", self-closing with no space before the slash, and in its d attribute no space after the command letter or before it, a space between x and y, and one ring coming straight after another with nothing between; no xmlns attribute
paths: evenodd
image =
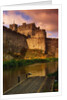
<svg viewBox="0 0 67 100"><path fill-rule="evenodd" d="M58 9L3 11L3 22L6 27L13 23L35 23L46 30L48 38L58 38Z"/></svg>

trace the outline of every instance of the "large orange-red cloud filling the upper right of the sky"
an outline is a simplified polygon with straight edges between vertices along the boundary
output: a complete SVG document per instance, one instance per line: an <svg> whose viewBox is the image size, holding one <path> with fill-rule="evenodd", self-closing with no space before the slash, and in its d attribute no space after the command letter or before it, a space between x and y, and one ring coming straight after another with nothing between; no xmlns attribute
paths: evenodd
<svg viewBox="0 0 67 100"><path fill-rule="evenodd" d="M32 18L32 22L47 31L58 31L58 9L21 10Z"/></svg>

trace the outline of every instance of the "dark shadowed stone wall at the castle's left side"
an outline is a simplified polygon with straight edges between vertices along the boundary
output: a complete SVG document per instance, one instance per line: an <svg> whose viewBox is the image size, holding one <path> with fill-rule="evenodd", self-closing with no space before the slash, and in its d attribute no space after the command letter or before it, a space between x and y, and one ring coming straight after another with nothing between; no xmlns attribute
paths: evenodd
<svg viewBox="0 0 67 100"><path fill-rule="evenodd" d="M28 48L26 36L3 27L3 48L6 53L20 53Z"/></svg>

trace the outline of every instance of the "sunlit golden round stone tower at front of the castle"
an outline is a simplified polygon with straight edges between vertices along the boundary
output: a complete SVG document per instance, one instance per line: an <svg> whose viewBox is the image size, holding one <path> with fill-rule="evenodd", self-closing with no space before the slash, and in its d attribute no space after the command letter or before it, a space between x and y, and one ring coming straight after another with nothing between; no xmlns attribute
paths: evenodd
<svg viewBox="0 0 67 100"><path fill-rule="evenodd" d="M39 49L44 53L46 51L46 35L44 31L37 31L35 35L27 39L28 47L30 49Z"/></svg>

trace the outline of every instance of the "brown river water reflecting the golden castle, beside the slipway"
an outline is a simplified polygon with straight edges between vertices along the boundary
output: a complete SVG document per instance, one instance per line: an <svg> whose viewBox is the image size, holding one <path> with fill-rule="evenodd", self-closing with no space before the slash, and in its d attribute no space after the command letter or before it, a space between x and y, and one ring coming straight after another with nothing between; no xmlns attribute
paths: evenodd
<svg viewBox="0 0 67 100"><path fill-rule="evenodd" d="M27 73L31 73L28 77L46 76L49 73L54 73L58 69L58 62L36 63L24 67L19 67L3 72L3 92L13 87L20 81L26 78Z"/></svg>

